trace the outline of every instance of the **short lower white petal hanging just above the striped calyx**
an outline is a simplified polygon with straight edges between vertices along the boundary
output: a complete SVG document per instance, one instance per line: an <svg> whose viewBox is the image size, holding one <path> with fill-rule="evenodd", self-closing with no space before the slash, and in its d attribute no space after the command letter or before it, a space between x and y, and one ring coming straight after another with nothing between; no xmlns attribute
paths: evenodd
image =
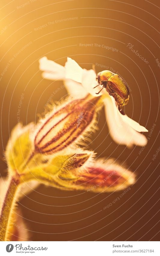
<svg viewBox="0 0 160 256"><path fill-rule="evenodd" d="M76 81L73 81L71 79L66 79L64 81L64 84L65 84L66 90L70 94L70 96L72 96L76 99L83 98L88 94L86 89L82 87L82 84L77 83Z"/></svg>

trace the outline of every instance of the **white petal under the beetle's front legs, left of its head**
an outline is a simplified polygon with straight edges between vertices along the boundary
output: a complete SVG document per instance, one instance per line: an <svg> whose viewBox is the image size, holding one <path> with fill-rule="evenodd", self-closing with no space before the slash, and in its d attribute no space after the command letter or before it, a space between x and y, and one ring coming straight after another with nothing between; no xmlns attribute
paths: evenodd
<svg viewBox="0 0 160 256"><path fill-rule="evenodd" d="M102 86L99 85L96 88L94 88L96 85L98 85L98 82L96 80L97 75L95 74L95 71L93 69L86 70L84 69L82 74L82 86L86 89L88 93L90 93L92 96L101 96L104 93L107 93L105 89L102 89ZM98 93L101 90L100 93ZM98 94L96 94L98 93Z"/></svg>

